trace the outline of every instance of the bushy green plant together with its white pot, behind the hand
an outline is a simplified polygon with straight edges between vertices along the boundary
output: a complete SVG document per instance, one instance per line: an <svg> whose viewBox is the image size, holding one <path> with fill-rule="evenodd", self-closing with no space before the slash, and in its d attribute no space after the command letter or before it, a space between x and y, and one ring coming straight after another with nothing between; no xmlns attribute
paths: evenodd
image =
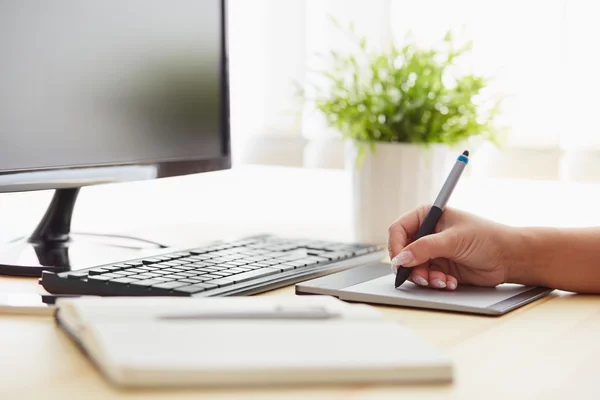
<svg viewBox="0 0 600 400"><path fill-rule="evenodd" d="M355 239L385 243L396 218L434 200L451 149L498 141L500 99L484 100L486 78L459 73L456 61L471 43L455 46L450 32L435 48L409 35L402 47L383 49L350 32L357 51L327 55L309 100L347 139Z"/></svg>

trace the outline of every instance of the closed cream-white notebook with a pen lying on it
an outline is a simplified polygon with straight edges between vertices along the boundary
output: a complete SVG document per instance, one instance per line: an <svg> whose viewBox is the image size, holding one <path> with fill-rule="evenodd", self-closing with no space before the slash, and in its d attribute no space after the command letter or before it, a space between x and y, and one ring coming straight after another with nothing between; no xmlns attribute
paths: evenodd
<svg viewBox="0 0 600 400"><path fill-rule="evenodd" d="M57 307L60 326L118 386L452 379L450 360L400 323L328 296L75 298ZM315 317L271 317L304 310ZM252 315L264 317L244 317Z"/></svg>

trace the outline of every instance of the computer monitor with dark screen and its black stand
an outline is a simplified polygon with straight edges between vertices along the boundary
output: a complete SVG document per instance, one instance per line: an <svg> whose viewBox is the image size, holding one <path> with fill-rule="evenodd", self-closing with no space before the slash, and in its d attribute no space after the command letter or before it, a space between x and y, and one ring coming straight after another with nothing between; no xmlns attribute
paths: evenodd
<svg viewBox="0 0 600 400"><path fill-rule="evenodd" d="M56 190L31 236L0 248L0 274L73 267L83 186L231 166L225 7L0 2L0 192Z"/></svg>

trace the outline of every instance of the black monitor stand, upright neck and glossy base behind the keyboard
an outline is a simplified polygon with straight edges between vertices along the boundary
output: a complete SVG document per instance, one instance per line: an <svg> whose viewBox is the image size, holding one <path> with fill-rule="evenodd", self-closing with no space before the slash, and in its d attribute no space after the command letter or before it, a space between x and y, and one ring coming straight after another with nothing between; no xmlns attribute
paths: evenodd
<svg viewBox="0 0 600 400"><path fill-rule="evenodd" d="M166 248L120 235L73 234L71 217L79 188L58 189L29 238L0 245L0 275L41 276L133 259ZM144 254L144 255L141 255Z"/></svg>

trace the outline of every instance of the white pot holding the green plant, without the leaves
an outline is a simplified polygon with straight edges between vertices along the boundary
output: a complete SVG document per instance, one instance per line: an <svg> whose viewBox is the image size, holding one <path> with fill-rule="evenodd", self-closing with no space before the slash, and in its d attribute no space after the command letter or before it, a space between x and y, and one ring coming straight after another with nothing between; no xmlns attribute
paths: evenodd
<svg viewBox="0 0 600 400"><path fill-rule="evenodd" d="M386 244L388 228L399 216L431 204L451 168L449 153L445 145L377 143L357 168L358 150L348 141L354 239Z"/></svg>

